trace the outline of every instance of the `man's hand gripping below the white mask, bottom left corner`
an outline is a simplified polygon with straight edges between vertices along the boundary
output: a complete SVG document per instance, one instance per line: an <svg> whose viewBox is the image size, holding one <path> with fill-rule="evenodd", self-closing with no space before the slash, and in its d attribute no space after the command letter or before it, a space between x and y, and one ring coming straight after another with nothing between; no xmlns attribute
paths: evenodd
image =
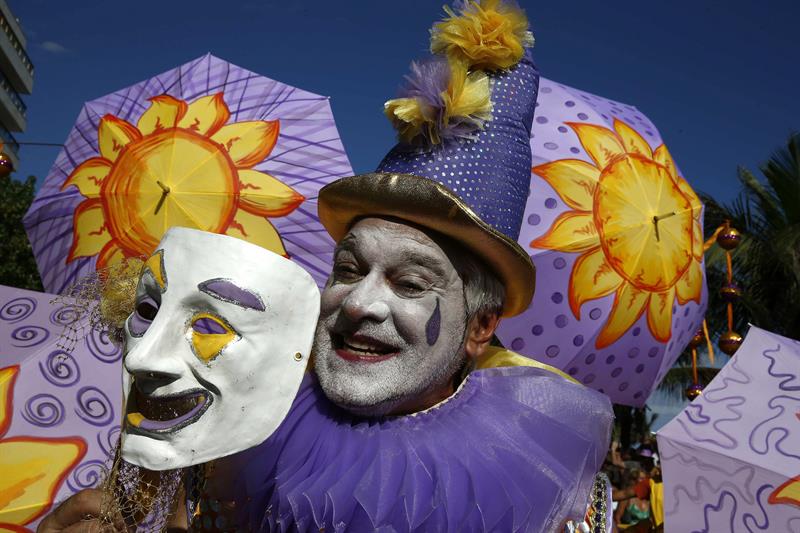
<svg viewBox="0 0 800 533"><path fill-rule="evenodd" d="M39 523L36 533L107 531L109 524L100 521L103 497L103 492L98 489L86 489L70 496ZM114 531L126 531L121 518L111 525Z"/></svg>

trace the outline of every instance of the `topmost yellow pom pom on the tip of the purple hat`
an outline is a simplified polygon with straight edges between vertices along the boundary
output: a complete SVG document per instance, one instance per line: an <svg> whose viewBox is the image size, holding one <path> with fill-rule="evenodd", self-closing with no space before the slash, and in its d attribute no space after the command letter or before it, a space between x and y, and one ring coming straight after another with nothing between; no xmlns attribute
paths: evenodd
<svg viewBox="0 0 800 533"><path fill-rule="evenodd" d="M470 69L499 70L513 67L533 46L525 13L502 0L472 1L431 29L431 52L466 62Z"/></svg>

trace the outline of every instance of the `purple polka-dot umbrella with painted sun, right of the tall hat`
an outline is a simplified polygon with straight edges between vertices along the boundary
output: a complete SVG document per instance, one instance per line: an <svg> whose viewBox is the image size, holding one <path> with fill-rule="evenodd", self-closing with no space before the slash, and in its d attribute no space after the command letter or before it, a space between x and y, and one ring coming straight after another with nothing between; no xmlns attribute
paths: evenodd
<svg viewBox="0 0 800 533"><path fill-rule="evenodd" d="M702 204L632 106L543 78L531 147L536 294L498 335L642 406L705 312Z"/></svg>

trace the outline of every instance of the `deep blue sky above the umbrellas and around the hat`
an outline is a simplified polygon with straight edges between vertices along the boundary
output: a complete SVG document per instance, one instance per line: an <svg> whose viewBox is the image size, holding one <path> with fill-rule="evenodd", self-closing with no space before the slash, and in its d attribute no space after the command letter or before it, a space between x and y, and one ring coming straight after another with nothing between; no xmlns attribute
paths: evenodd
<svg viewBox="0 0 800 533"><path fill-rule="evenodd" d="M394 132L382 114L425 54L437 0L8 0L36 66L21 141L63 142L82 103L206 52L331 96L357 172ZM790 0L527 1L545 77L637 106L695 188L723 199L800 129L800 7ZM57 149L23 147L42 179Z"/></svg>

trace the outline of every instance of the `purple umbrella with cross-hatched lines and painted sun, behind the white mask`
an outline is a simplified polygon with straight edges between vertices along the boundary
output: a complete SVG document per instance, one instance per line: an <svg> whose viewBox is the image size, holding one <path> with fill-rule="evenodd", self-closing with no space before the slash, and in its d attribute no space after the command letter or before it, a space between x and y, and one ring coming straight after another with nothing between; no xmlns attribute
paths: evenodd
<svg viewBox="0 0 800 533"><path fill-rule="evenodd" d="M171 226L254 242L321 285L317 192L350 174L327 97L206 55L88 102L25 226L55 293L149 255Z"/></svg>

